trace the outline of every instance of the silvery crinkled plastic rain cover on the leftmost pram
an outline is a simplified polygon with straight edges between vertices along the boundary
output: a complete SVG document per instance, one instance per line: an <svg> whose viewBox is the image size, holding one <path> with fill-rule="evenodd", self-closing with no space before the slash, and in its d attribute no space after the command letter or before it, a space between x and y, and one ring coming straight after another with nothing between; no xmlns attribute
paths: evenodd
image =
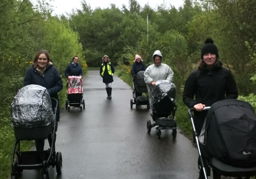
<svg viewBox="0 0 256 179"><path fill-rule="evenodd" d="M53 120L52 102L45 87L31 84L19 89L11 104L13 127L45 127Z"/></svg>

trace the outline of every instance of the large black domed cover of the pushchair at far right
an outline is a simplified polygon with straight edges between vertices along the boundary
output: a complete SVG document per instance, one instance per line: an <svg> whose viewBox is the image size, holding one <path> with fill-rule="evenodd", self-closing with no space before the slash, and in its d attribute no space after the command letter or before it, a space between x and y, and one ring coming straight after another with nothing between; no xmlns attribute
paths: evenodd
<svg viewBox="0 0 256 179"><path fill-rule="evenodd" d="M200 143L207 153L234 167L256 166L256 115L240 100L212 104L202 128Z"/></svg>

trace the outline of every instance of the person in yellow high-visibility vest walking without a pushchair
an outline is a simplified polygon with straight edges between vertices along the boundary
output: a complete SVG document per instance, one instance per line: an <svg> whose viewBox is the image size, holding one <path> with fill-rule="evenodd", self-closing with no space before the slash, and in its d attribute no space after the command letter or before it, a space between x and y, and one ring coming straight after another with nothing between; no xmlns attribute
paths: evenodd
<svg viewBox="0 0 256 179"><path fill-rule="evenodd" d="M112 82L114 81L115 69L108 55L103 56L102 62L99 74L103 78L103 83L106 85L106 94L108 94L106 99L112 99Z"/></svg>

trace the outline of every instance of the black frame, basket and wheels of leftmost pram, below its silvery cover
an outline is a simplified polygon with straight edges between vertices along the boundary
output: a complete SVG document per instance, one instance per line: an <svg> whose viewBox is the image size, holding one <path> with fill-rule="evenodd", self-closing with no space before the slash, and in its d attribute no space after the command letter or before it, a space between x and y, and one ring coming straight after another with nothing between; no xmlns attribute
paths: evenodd
<svg viewBox="0 0 256 179"><path fill-rule="evenodd" d="M50 166L56 167L57 174L62 171L62 155L61 152L55 151L56 141L56 111L58 101L56 101L54 108L54 120L48 126L35 128L19 128L14 127L15 143L12 151L12 172L11 179L17 179L22 175L23 170L41 169L42 179L49 179L48 168ZM43 151L20 151L20 141L42 140L47 139L51 133L52 144L50 149ZM15 158L16 156L16 158Z"/></svg>

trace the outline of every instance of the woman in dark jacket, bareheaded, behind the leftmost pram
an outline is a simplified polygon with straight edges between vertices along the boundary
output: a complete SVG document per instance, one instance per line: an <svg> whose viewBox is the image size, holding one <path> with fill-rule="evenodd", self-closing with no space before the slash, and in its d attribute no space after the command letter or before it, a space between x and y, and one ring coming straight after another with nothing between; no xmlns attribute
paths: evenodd
<svg viewBox="0 0 256 179"><path fill-rule="evenodd" d="M60 75L50 61L50 56L47 51L41 50L37 52L32 66L28 69L24 78L24 86L36 84L47 88L51 98L57 99L58 93L63 88L63 83ZM52 107L56 106L56 102L52 100ZM59 121L59 104L57 105L56 121ZM57 123L56 123L57 124ZM57 128L57 127L56 127ZM57 129L56 129L57 130ZM48 137L49 144L51 144L51 135ZM36 140L36 150L44 150L45 140Z"/></svg>

